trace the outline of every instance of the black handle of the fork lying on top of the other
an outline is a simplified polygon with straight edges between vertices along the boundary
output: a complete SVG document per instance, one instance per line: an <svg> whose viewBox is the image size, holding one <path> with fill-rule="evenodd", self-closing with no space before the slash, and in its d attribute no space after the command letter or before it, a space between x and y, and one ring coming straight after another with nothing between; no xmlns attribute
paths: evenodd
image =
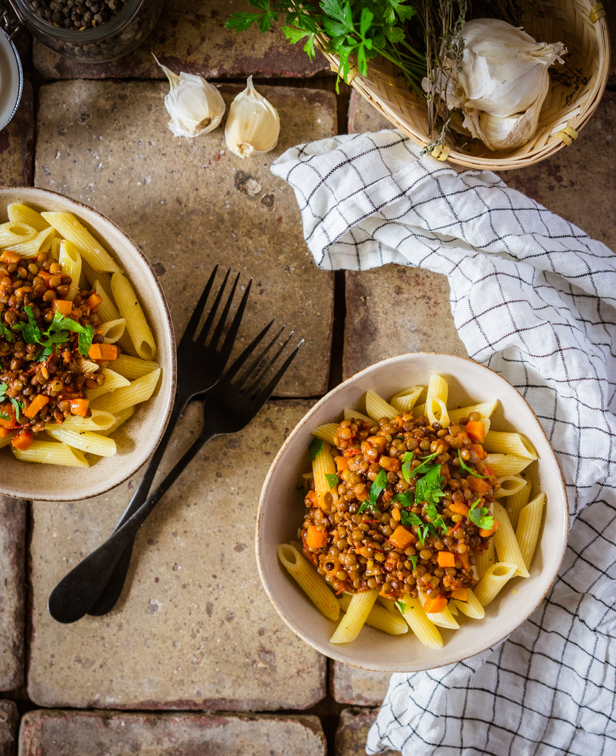
<svg viewBox="0 0 616 756"><path fill-rule="evenodd" d="M218 433L208 432L204 427L197 440L175 465L169 475L160 483L156 491L107 538L101 546L79 562L68 575L57 584L48 601L48 612L58 622L76 622L88 613L94 601L101 595L107 581L113 575L125 549L144 520L150 514L163 494L171 488L181 472L193 460L200 448Z"/></svg>

